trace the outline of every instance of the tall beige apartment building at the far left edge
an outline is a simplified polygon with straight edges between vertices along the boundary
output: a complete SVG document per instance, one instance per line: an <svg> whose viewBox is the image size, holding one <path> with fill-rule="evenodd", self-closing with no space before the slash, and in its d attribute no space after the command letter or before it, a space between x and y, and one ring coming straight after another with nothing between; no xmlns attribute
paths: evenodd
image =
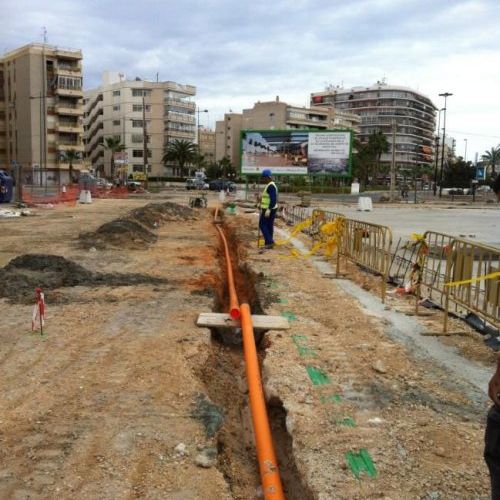
<svg viewBox="0 0 500 500"><path fill-rule="evenodd" d="M29 44L0 57L0 168L13 162L22 180L69 181L68 152L83 155L82 52Z"/></svg>

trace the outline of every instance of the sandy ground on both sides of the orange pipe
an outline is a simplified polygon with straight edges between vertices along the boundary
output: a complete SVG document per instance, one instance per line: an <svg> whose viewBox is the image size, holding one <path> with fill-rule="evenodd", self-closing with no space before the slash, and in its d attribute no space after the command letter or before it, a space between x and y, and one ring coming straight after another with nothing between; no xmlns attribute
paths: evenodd
<svg viewBox="0 0 500 500"><path fill-rule="evenodd" d="M80 232L146 203L99 200L0 221L1 266L43 252L166 280L60 289L67 300L48 302L43 338L29 331L31 306L0 300L0 498L260 497L241 351L194 325L221 300L208 214L166 223L145 250L78 244ZM291 323L260 346L287 498L488 498L484 393L416 357L307 260L285 248L258 254L250 215L226 220L254 305ZM224 414L214 438L192 418L200 394ZM217 448L216 466L196 465L204 447ZM368 456L374 469L360 463L357 477L346 456Z"/></svg>

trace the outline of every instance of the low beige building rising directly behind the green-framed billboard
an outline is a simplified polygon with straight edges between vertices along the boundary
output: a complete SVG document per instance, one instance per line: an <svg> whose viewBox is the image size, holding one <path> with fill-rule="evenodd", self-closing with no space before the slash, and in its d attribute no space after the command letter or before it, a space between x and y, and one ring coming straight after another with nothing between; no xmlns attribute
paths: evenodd
<svg viewBox="0 0 500 500"><path fill-rule="evenodd" d="M242 130L338 130L359 132L361 119L333 106L310 108L292 106L279 100L257 102L253 108L239 113L226 113L224 120L216 122L216 160L227 156L233 166L240 165L240 134Z"/></svg>

